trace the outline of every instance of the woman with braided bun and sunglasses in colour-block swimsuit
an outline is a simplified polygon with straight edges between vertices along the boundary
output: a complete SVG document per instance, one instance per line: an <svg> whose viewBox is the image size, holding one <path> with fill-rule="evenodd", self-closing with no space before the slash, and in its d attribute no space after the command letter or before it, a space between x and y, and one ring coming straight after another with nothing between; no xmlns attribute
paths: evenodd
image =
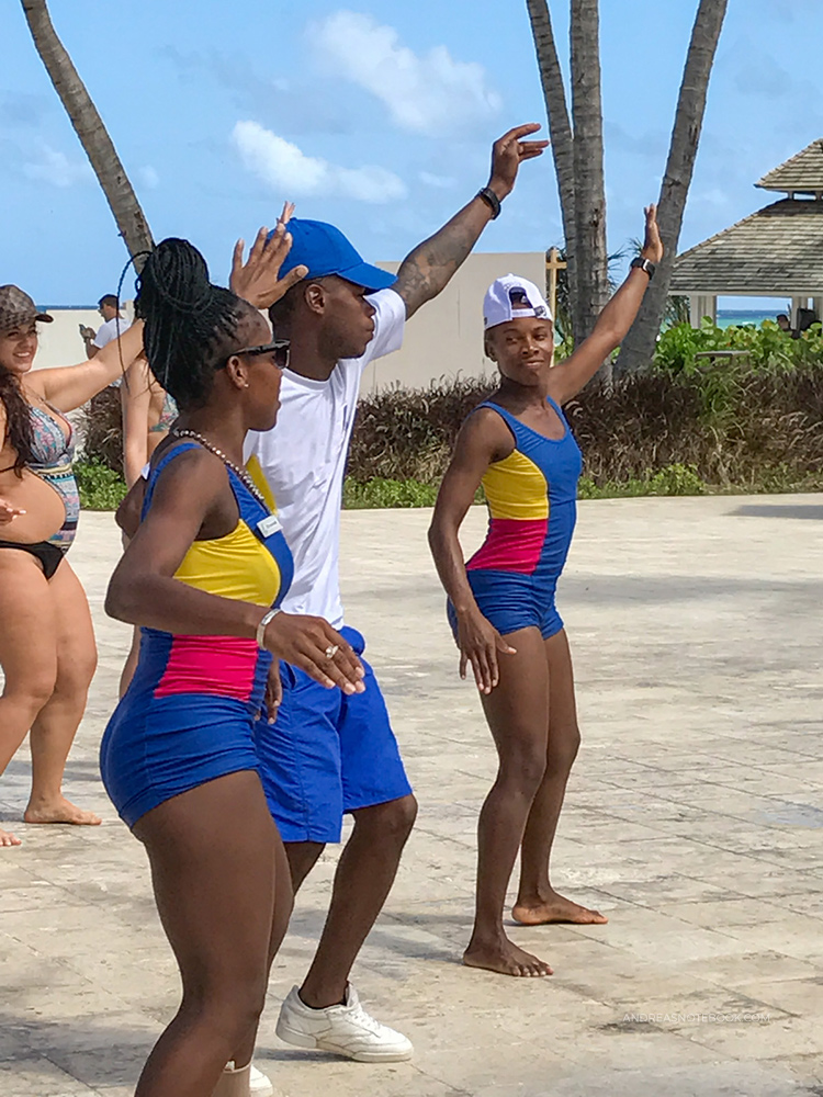
<svg viewBox="0 0 823 1097"><path fill-rule="evenodd" d="M363 671L325 621L277 609L291 553L243 468L246 432L274 426L288 344L271 341L251 305L211 285L183 240L150 255L137 309L149 366L180 417L155 451L143 519L126 529L109 587L106 611L140 625L142 643L101 770L146 847L183 998L136 1097L246 1097L292 901L253 721L272 654L349 694L362 691Z"/></svg>

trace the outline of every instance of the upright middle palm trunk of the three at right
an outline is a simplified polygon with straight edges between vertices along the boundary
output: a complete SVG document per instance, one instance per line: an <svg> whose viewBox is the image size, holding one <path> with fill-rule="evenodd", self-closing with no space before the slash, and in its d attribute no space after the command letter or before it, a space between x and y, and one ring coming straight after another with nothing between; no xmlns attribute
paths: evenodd
<svg viewBox="0 0 823 1097"><path fill-rule="evenodd" d="M598 0L572 0L571 36L577 253L574 337L579 343L591 333L609 299ZM609 373L604 363L601 378L608 380Z"/></svg>

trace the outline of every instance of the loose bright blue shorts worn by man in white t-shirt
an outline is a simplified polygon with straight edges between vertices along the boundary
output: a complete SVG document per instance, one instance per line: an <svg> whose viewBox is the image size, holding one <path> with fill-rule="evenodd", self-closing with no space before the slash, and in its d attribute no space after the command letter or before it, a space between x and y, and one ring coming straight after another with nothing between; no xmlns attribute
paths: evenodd
<svg viewBox="0 0 823 1097"><path fill-rule="evenodd" d="M358 655L365 641L341 634ZM363 661L364 693L326 689L281 663L283 700L275 723L255 725L263 789L283 841L339 841L342 817L412 792L374 671Z"/></svg>

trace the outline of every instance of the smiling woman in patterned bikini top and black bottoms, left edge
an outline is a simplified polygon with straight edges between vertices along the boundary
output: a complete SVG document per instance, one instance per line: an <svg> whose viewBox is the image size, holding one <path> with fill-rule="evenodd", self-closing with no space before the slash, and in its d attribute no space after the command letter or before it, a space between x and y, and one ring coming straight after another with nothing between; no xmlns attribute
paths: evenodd
<svg viewBox="0 0 823 1097"><path fill-rule="evenodd" d="M66 559L80 505L65 412L131 364L142 325L79 365L32 371L37 324L50 319L18 286L0 286L0 773L31 730L25 822L95 825L61 791L97 663L89 606ZM19 845L0 830L0 846Z"/></svg>

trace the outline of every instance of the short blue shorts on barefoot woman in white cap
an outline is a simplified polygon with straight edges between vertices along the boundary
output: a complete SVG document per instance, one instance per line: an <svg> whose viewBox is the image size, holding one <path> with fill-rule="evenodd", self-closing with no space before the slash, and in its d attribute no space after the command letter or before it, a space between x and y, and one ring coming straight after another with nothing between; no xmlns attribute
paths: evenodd
<svg viewBox="0 0 823 1097"><path fill-rule="evenodd" d="M563 627L554 604L556 577L481 568L470 569L466 576L481 613L501 636L533 627L540 629L540 635L548 640ZM447 603L446 612L456 638L458 619L451 602Z"/></svg>

